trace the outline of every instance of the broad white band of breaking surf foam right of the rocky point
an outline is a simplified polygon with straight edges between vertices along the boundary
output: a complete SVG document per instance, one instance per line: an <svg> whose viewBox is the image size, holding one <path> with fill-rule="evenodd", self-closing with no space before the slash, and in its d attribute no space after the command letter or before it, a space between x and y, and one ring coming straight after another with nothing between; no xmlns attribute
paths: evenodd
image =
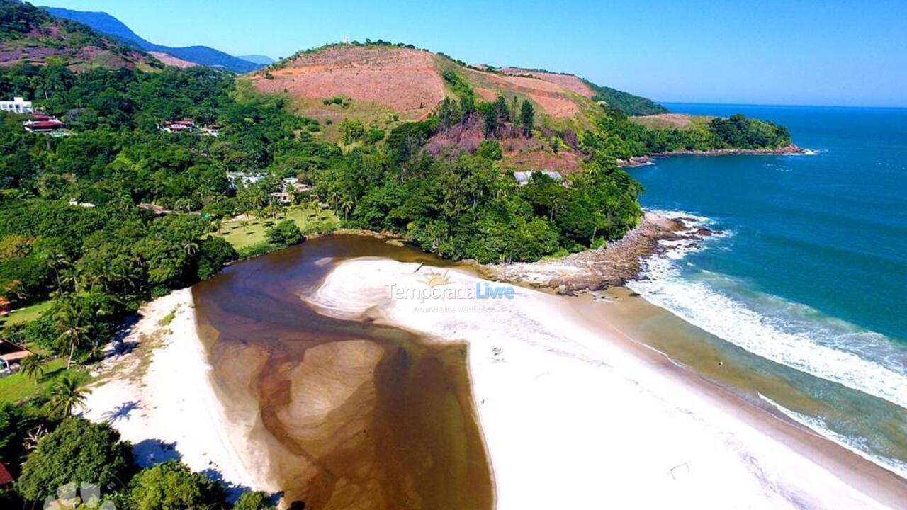
<svg viewBox="0 0 907 510"><path fill-rule="evenodd" d="M683 212L677 216L693 217ZM690 250L696 249L681 246L668 250L666 257L647 260L644 278L630 281L629 289L761 358L907 408L907 367L835 346L835 338L819 338L822 332L817 329L785 328L783 321L760 314L706 281L684 279L676 260Z"/></svg>

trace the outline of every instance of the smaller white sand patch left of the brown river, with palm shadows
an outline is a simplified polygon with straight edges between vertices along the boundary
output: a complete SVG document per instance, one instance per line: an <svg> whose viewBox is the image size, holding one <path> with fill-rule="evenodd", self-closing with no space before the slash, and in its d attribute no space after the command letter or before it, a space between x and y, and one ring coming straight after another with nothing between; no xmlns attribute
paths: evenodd
<svg viewBox="0 0 907 510"><path fill-rule="evenodd" d="M193 306L191 290L180 289L142 307L123 340L136 347L104 361L84 416L116 428L135 446L140 466L179 457L232 495L276 491L267 457L249 441L251 426L226 416L212 387Z"/></svg>

